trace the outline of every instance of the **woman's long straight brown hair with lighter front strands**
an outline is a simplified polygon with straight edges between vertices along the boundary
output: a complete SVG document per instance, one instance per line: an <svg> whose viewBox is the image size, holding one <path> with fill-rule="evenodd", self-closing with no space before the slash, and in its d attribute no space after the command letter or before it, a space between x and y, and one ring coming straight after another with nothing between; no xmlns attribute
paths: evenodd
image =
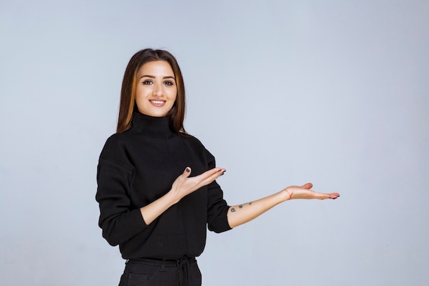
<svg viewBox="0 0 429 286"><path fill-rule="evenodd" d="M183 121L185 115L185 86L180 71L179 64L174 56L168 51L162 49L142 49L132 56L128 62L123 75L121 88L121 104L119 106L119 117L117 133L124 132L132 126L133 112L138 112L136 106L136 86L138 83L137 73L140 67L147 62L155 60L164 60L168 62L173 69L175 82L177 85L177 96L171 110L167 113L170 117L170 128L177 134L186 134Z"/></svg>

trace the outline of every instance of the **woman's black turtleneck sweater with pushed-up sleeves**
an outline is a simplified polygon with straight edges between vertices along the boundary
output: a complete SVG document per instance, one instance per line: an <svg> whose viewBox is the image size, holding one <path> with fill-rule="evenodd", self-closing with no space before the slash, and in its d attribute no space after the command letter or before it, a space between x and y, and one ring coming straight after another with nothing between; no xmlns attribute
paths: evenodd
<svg viewBox="0 0 429 286"><path fill-rule="evenodd" d="M215 158L193 136L179 136L168 117L134 114L132 128L113 134L97 169L99 226L124 259L197 257L206 244L206 226L230 230L229 206L217 182L182 198L147 225L140 208L166 194L186 167L197 176L215 167Z"/></svg>

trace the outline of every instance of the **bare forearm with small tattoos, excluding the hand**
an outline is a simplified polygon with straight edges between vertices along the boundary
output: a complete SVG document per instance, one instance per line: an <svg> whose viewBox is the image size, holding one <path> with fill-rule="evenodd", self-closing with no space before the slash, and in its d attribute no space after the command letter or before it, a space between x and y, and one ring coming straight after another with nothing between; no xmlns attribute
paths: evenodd
<svg viewBox="0 0 429 286"><path fill-rule="evenodd" d="M228 210L228 224L231 228L245 224L289 198L289 194L283 190L266 198L231 206Z"/></svg>

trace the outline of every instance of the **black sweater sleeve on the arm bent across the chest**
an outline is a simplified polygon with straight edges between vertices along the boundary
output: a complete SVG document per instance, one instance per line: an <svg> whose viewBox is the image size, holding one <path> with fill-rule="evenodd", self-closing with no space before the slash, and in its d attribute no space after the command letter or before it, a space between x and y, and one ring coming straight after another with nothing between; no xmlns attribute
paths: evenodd
<svg viewBox="0 0 429 286"><path fill-rule="evenodd" d="M124 162L125 150L120 144L107 141L97 168L97 194L103 237L111 246L127 241L146 226L140 209L131 207L130 182L134 170Z"/></svg>

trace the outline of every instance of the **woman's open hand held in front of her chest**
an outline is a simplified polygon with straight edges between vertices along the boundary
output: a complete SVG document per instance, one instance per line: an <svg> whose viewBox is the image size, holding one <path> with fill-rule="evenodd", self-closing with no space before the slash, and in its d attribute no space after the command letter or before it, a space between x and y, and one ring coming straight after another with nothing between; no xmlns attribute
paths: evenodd
<svg viewBox="0 0 429 286"><path fill-rule="evenodd" d="M175 203L179 202L184 196L197 191L197 189L210 184L225 173L223 168L213 168L205 171L203 174L191 177L191 167L186 167L182 175L178 176L171 186L171 193L174 195Z"/></svg>

